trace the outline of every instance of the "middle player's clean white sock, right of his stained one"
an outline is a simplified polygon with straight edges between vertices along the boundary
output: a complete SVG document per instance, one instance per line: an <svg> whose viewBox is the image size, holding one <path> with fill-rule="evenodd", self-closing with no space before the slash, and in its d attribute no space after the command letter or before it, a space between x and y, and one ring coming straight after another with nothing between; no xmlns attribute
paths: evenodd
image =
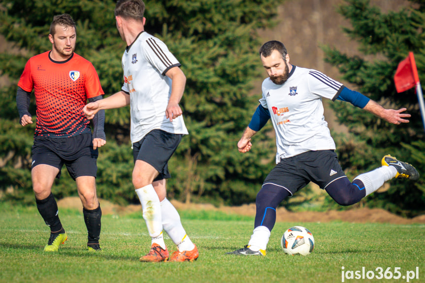
<svg viewBox="0 0 425 283"><path fill-rule="evenodd" d="M177 245L179 251L192 251L195 245L186 234L176 208L166 198L161 202L161 211L163 229Z"/></svg>

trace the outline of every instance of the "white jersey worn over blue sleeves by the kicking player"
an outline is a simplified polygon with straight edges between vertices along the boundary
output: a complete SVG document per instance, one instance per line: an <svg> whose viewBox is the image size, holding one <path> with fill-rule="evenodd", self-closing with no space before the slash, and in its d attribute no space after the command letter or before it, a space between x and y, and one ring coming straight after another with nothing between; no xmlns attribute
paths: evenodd
<svg viewBox="0 0 425 283"><path fill-rule="evenodd" d="M283 85L270 78L262 82L259 101L270 112L276 132L276 163L307 151L335 149L323 116L322 97L336 99L341 87L319 71L296 66Z"/></svg>

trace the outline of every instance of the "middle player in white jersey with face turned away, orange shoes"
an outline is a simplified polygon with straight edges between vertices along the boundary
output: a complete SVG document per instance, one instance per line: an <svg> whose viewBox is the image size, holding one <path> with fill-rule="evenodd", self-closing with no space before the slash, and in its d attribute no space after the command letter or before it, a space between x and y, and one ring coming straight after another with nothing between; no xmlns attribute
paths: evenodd
<svg viewBox="0 0 425 283"><path fill-rule="evenodd" d="M144 31L142 0L119 0L115 7L117 29L127 48L122 58L124 85L101 103L83 109L90 119L101 109L130 104L134 169L132 182L152 238L151 250L140 261L193 261L195 244L187 236L174 206L166 198L165 180L170 178L168 160L182 136L188 134L179 106L186 76L180 63L158 38ZM177 245L171 257L163 230Z"/></svg>

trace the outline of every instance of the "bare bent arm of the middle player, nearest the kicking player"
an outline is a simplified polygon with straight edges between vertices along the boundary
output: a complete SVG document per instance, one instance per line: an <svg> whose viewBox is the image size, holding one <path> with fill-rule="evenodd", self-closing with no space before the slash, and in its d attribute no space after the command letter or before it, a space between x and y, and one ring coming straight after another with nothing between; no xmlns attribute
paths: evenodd
<svg viewBox="0 0 425 283"><path fill-rule="evenodd" d="M183 114L179 103L185 91L186 76L179 67L169 69L165 75L172 80L171 95L165 110L165 117L172 122L173 119Z"/></svg>

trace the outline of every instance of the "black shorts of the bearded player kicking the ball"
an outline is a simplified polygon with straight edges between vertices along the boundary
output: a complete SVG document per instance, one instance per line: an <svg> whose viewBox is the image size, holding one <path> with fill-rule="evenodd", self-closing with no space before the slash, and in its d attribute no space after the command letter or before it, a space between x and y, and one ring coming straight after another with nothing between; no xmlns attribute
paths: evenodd
<svg viewBox="0 0 425 283"><path fill-rule="evenodd" d="M308 151L294 157L283 158L271 170L263 185L271 183L288 190L297 190L313 182L321 189L335 179L345 176L333 150Z"/></svg>

